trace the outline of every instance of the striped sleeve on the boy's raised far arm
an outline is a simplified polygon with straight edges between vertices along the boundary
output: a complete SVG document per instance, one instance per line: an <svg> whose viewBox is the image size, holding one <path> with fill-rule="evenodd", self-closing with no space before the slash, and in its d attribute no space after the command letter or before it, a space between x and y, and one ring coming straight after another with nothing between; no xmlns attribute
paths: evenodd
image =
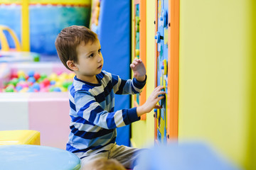
<svg viewBox="0 0 256 170"><path fill-rule="evenodd" d="M138 81L135 78L124 80L117 75L111 74L111 79L115 94L139 94L146 84L146 78L144 81Z"/></svg>

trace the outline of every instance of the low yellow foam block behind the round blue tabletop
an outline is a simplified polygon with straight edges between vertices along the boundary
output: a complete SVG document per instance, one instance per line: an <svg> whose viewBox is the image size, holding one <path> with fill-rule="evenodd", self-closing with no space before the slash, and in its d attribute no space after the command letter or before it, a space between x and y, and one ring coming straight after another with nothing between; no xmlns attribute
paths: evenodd
<svg viewBox="0 0 256 170"><path fill-rule="evenodd" d="M0 131L0 145L40 145L40 132L36 130Z"/></svg>

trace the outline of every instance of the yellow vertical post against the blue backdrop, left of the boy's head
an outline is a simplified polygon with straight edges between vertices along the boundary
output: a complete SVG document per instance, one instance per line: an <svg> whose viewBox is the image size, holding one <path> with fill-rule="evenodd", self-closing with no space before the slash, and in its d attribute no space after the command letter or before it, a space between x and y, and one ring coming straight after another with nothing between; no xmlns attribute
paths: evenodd
<svg viewBox="0 0 256 170"><path fill-rule="evenodd" d="M21 45L23 51L30 51L29 0L21 0Z"/></svg>

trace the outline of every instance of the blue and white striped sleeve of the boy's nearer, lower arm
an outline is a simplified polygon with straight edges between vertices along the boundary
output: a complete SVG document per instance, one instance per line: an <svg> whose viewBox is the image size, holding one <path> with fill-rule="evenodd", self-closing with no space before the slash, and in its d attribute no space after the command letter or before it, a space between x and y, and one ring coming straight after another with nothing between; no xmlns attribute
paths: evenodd
<svg viewBox="0 0 256 170"><path fill-rule="evenodd" d="M122 109L115 112L105 111L87 91L77 91L74 99L75 108L80 117L105 129L122 127L140 120L136 108Z"/></svg>

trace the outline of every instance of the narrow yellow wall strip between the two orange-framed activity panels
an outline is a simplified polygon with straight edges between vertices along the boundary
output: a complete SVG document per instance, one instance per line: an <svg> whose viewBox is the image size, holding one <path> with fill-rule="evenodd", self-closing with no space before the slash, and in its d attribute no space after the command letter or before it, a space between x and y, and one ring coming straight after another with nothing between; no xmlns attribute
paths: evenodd
<svg viewBox="0 0 256 170"><path fill-rule="evenodd" d="M134 6L132 6L134 7ZM155 1L146 1L146 98L154 90L154 9ZM133 8L134 10L134 8ZM132 11L133 13L133 11ZM132 21L134 22L134 21ZM134 23L132 23L134 24ZM134 33L134 30L132 30ZM132 52L134 54L134 52ZM154 144L154 112L146 115L146 120L132 123L132 146L146 147Z"/></svg>

